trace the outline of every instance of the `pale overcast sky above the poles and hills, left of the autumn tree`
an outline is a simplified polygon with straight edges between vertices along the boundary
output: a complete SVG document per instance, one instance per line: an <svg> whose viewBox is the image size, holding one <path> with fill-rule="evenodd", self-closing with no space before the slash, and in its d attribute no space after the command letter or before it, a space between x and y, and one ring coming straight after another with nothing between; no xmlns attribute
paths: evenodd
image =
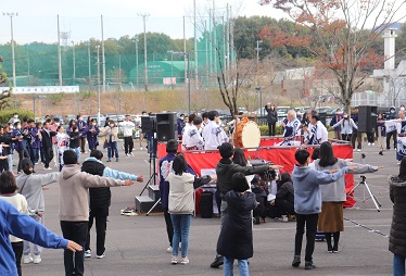
<svg viewBox="0 0 406 276"><path fill-rule="evenodd" d="M271 5L259 5L257 0L195 0L198 18L208 20L208 10L215 4L218 20L226 16L229 3L233 15L280 14ZM173 38L193 37L193 0L12 0L2 1L0 10L0 43L11 39L10 16L3 13L18 13L13 16L14 40L17 43L30 41L58 41L60 30L69 34L67 42L101 39L101 15L103 15L104 39L134 36L143 33L140 15L148 14L147 32L158 32ZM203 25L202 25L203 26Z"/></svg>

